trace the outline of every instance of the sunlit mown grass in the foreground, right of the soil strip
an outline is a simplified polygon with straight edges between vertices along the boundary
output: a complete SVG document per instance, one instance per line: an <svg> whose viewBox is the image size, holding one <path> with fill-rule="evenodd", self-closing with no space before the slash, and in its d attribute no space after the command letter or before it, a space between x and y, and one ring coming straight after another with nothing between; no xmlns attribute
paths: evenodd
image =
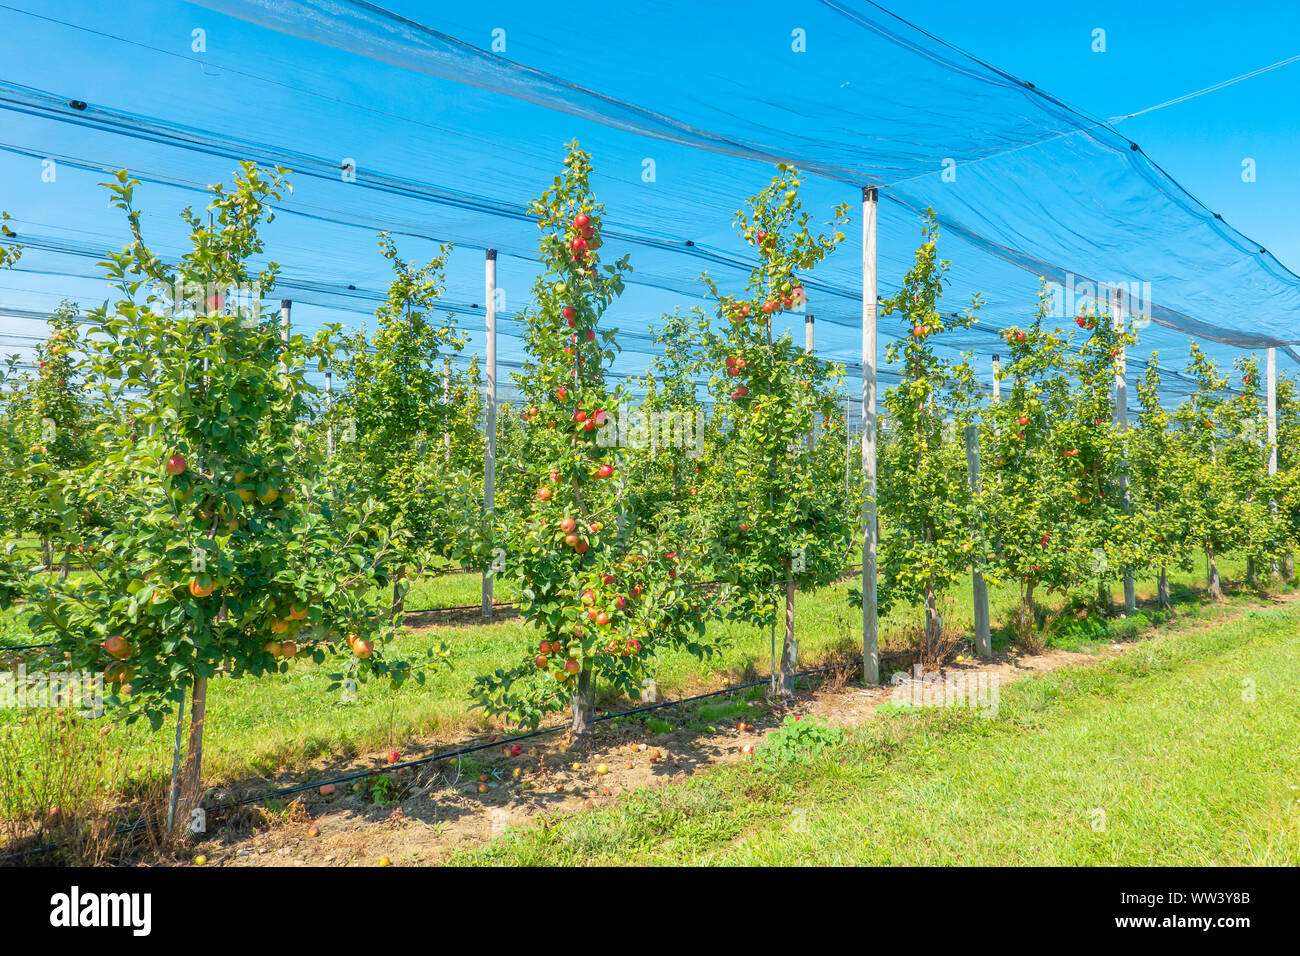
<svg viewBox="0 0 1300 956"><path fill-rule="evenodd" d="M1006 685L992 719L879 715L820 756L719 767L452 861L1296 865L1300 607L1214 617Z"/></svg>

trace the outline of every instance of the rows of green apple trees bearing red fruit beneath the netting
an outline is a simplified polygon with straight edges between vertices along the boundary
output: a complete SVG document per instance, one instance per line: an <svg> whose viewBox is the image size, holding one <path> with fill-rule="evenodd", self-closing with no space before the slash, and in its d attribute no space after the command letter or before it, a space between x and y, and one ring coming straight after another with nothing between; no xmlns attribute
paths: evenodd
<svg viewBox="0 0 1300 956"><path fill-rule="evenodd" d="M578 740L599 700L640 700L670 652L703 669L737 622L772 631L772 693L793 693L800 596L861 575L864 515L872 609L904 609L931 665L952 650L944 609L974 572L1014 588L1014 619L996 624L1030 649L1114 614L1126 579L1158 581L1167 604L1169 572L1195 562L1212 594L1225 555L1247 561L1252 584L1291 574L1300 462L1284 438L1300 399L1278 384L1270 445L1253 360L1218 368L1193 346L1176 369L1190 392L1166 407L1150 355L1126 420L1115 381L1140 349L1132 319L1088 302L1058 328L1045 291L998 333L994 399L989 369L953 345L982 302L944 302L949 263L926 215L880 306L907 332L883 350L893 384L872 494L845 369L776 332L815 311L848 208L806 209L802 174L779 165L732 222L748 280L702 276L708 308L656 320L654 358L628 377L607 313L636 263L604 255L590 174L573 144L528 209L536 280L519 401L500 408L441 307L447 247L408 263L381 234L393 280L374 332L306 336L268 304L278 269L261 232L286 170L243 164L207 208L182 211L190 243L174 261L151 248L139 183L105 185L131 234L103 263L109 300L65 303L35 369L5 371L0 601L47 661L103 675L113 714L159 728L188 709L182 804L200 790L214 682L318 667L328 693L364 693L456 669L456 648L403 650L406 596L455 570L508 585L525 626L510 661L463 675L464 700L519 727L567 711ZM9 267L22 250L0 254ZM254 306L174 293L250 286ZM328 402L308 368L339 376ZM636 415L689 437L611 437ZM862 604L854 585L844 606L861 617Z"/></svg>

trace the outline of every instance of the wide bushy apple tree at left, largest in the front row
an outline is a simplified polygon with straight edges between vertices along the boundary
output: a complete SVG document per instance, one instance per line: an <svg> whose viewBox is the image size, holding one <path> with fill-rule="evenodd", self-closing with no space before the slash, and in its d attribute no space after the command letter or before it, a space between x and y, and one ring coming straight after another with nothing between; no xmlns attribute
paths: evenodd
<svg viewBox="0 0 1300 956"><path fill-rule="evenodd" d="M100 449L81 467L31 466L69 541L77 502L125 489L87 532L90 575L16 585L34 639L72 669L101 671L127 719L159 727L188 693L178 804L196 799L212 678L307 657L342 665L335 687L422 676L384 653L387 617L368 598L393 548L378 506L335 497L307 460L317 453L304 440L304 367L329 360L337 330L285 342L261 310L277 267L251 261L282 174L246 163L231 187L211 187L207 221L182 213L190 247L174 265L146 242L138 182L124 170L105 183L133 239L105 258L113 298L90 315L81 371L121 412L99 425Z"/></svg>

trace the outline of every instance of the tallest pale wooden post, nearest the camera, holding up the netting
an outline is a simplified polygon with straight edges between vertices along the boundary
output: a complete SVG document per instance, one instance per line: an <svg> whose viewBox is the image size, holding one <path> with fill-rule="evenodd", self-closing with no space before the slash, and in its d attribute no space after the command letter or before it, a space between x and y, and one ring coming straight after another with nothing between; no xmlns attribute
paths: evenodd
<svg viewBox="0 0 1300 956"><path fill-rule="evenodd" d="M862 680L880 683L876 619L876 212L879 191L862 190Z"/></svg>

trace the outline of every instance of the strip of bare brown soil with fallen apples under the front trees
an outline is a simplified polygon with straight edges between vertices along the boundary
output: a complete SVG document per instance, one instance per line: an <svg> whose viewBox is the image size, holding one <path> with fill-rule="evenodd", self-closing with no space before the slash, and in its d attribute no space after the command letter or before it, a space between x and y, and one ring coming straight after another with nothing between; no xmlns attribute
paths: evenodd
<svg viewBox="0 0 1300 956"><path fill-rule="evenodd" d="M1265 601L1275 605L1297 597L1286 594ZM1043 671L1091 665L1132 646L1097 645L1088 653L1046 649L1037 654L1011 648L988 662L974 659L968 649L959 648L944 669L944 678L997 674L1002 685ZM884 672L890 672L888 663ZM660 787L714 765L748 760L746 748L759 747L786 714L815 715L844 727L861 724L872 719L876 709L890 702L900 689L888 683L861 688L845 683L840 674L826 676L819 685L785 701L753 700L749 713L740 719L715 718L706 724L698 705L671 706L651 711L656 726L671 724L663 732L654 732L637 718L602 721L582 747L552 734L520 741L520 754L512 756L511 745L502 743L464 758L363 778L355 784L359 791L354 791L352 783L343 783L330 796L311 790L291 800L213 814L211 826L216 832L192 852L204 855L207 866L437 864L456 848L493 840L507 827L582 813L612 804L634 790ZM706 706L728 700L744 701L744 693L711 698ZM503 732L500 739L507 737ZM447 749L445 743L426 741L425 750L420 747L413 741L402 760ZM322 763L302 782L384 766L381 756ZM387 783L374 784L376 779ZM385 795L390 799L376 801L374 786L391 791ZM231 796L238 795L217 792L213 803Z"/></svg>

